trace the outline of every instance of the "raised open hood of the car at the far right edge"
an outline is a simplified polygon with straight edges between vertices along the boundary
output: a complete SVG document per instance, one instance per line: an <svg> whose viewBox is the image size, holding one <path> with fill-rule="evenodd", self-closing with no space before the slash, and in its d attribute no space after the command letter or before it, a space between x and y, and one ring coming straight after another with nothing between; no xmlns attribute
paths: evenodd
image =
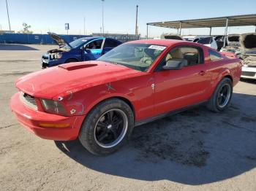
<svg viewBox="0 0 256 191"><path fill-rule="evenodd" d="M241 34L240 43L243 54L256 55L256 33Z"/></svg>

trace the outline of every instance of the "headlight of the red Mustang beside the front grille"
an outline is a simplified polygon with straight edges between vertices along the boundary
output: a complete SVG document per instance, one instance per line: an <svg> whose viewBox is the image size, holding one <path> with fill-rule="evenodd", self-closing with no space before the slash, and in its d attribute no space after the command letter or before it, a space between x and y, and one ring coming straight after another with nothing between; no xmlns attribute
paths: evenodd
<svg viewBox="0 0 256 191"><path fill-rule="evenodd" d="M64 106L62 106L58 101L41 98L41 103L45 112L67 116Z"/></svg>

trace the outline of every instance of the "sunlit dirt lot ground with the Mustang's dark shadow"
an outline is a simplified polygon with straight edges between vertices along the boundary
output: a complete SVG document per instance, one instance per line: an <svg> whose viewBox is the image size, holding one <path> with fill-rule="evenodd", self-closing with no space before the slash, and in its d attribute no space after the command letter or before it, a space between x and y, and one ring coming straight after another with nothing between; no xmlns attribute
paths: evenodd
<svg viewBox="0 0 256 191"><path fill-rule="evenodd" d="M200 106L135 128L119 152L48 141L12 115L14 81L53 46L0 44L0 190L256 190L256 82L239 82L223 113Z"/></svg>

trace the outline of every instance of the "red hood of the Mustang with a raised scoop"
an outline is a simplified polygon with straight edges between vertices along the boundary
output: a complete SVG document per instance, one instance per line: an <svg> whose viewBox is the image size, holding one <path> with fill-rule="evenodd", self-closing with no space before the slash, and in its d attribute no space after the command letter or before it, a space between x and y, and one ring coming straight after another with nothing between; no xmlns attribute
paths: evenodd
<svg viewBox="0 0 256 191"><path fill-rule="evenodd" d="M141 72L102 61L66 63L21 77L15 86L29 95L50 99L138 74Z"/></svg>

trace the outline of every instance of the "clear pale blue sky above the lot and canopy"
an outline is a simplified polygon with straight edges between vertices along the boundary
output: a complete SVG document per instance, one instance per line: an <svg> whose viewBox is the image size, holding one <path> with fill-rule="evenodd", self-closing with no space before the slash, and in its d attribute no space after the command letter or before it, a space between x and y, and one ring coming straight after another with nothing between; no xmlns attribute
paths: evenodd
<svg viewBox="0 0 256 191"><path fill-rule="evenodd" d="M256 13L256 1L170 1L170 0L105 0L105 32L135 33L135 9L138 4L138 31L146 35L146 23L185 20L228 15ZM64 23L69 23L69 34L83 34L83 17L86 17L86 34L99 32L102 26L101 0L8 0L12 30L19 31L22 23L31 25L34 33L53 31L66 34ZM7 30L5 0L0 0L0 27ZM208 34L208 28L184 29L181 34ZM230 27L229 34L254 32L255 27ZM163 32L176 32L151 26L150 36ZM224 28L213 28L212 34L223 34Z"/></svg>

